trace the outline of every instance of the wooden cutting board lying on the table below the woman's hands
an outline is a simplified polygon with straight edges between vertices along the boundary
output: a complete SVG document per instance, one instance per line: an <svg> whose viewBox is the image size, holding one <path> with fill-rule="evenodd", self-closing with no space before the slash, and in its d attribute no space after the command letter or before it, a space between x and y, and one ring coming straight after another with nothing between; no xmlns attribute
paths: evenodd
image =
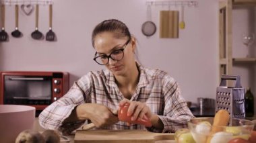
<svg viewBox="0 0 256 143"><path fill-rule="evenodd" d="M154 143L156 140L174 140L172 133L152 133L146 130L77 130L75 143Z"/></svg>

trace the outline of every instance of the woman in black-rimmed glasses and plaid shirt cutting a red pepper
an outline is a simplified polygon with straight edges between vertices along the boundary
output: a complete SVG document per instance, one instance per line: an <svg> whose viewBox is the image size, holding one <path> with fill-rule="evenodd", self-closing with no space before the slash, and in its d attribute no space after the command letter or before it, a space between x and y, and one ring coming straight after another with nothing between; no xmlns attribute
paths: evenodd
<svg viewBox="0 0 256 143"><path fill-rule="evenodd" d="M94 60L105 70L88 73L76 81L61 99L39 115L44 128L69 133L86 120L98 129L147 129L175 132L193 117L179 86L162 70L144 68L135 60L136 40L125 23L102 21L92 32ZM120 122L115 112L129 103L131 120L146 117L151 128Z"/></svg>

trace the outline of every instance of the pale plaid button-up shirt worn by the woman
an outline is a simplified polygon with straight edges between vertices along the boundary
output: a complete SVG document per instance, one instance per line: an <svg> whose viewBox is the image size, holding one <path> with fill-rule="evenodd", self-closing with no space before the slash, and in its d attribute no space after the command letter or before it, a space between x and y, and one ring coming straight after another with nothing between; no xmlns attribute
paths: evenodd
<svg viewBox="0 0 256 143"><path fill-rule="evenodd" d="M157 114L162 120L164 130L141 125L126 126L125 122L117 122L113 126L101 129L175 132L179 128L187 128L187 122L193 114L187 107L185 99L181 97L177 82L162 70L144 68L138 63L137 66L140 71L139 83L130 100L145 102L152 113ZM85 123L85 121L77 121L63 124L77 105L98 103L111 109L118 109L119 101L124 98L115 83L114 75L109 70L90 72L76 81L63 97L46 107L39 115L39 122L44 128L67 134Z"/></svg>

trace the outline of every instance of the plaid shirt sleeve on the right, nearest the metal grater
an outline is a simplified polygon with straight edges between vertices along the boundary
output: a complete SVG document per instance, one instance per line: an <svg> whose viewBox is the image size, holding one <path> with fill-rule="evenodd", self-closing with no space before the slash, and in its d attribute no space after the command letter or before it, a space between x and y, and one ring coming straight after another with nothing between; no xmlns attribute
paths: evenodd
<svg viewBox="0 0 256 143"><path fill-rule="evenodd" d="M172 77L165 77L162 94L164 95L164 112L158 115L164 124L162 132L176 132L180 128L187 128L187 122L194 117L187 103L181 97L179 85ZM152 132L159 132L156 128L148 129Z"/></svg>

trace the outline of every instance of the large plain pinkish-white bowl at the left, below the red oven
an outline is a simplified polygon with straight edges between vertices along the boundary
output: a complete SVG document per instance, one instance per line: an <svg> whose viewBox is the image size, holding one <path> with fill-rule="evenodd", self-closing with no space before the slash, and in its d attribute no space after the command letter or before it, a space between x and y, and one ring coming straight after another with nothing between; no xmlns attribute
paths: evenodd
<svg viewBox="0 0 256 143"><path fill-rule="evenodd" d="M6 143L26 129L32 129L36 108L25 105L0 105L0 138Z"/></svg>

